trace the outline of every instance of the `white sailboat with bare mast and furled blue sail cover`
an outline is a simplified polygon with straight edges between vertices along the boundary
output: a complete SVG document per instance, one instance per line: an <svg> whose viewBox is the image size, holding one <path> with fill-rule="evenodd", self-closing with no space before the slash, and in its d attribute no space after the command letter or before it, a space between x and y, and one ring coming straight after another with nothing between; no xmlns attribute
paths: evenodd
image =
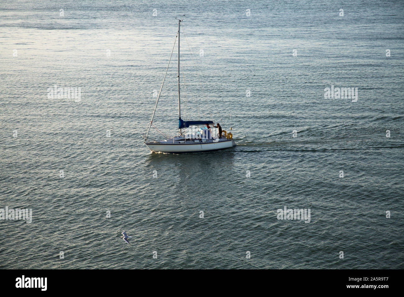
<svg viewBox="0 0 404 297"><path fill-rule="evenodd" d="M176 18L177 19L177 18ZM176 136L168 137L162 140L149 139L150 127L153 123L154 114L156 113L157 103L160 98L160 94L164 85L164 80L167 75L168 66L170 65L171 57L173 56L173 51L175 48L175 42L173 50L171 51L171 56L168 61L166 73L164 74L163 82L161 84L160 92L157 97L156 105L154 106L153 114L149 122L149 128L147 133L143 134L143 139L145 145L149 148L151 152L161 152L161 153L192 153L192 152L210 152L216 150L223 150L229 147L236 146L236 142L233 140L233 134L230 132L222 131L221 135L212 135L212 130L210 124L213 124L211 120L183 120L181 119L181 95L180 95L180 26L181 21L178 20L178 32L176 40L178 38L178 129L179 133ZM231 116L230 116L231 118ZM231 120L230 120L231 123ZM206 125L204 128L199 128L199 125ZM191 127L191 128L190 128ZM208 128L209 127L209 128ZM183 131L185 129L185 131Z"/></svg>

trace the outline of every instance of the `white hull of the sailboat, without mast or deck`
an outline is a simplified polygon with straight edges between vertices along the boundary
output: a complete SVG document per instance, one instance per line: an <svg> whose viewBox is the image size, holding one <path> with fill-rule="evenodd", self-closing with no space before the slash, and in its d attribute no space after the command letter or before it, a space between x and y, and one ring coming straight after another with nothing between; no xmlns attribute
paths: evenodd
<svg viewBox="0 0 404 297"><path fill-rule="evenodd" d="M229 147L236 146L233 139L220 140L218 142L207 141L194 143L193 141L188 141L185 143L146 143L147 147L151 152L161 152L161 153L196 153L196 152L210 152L223 150Z"/></svg>

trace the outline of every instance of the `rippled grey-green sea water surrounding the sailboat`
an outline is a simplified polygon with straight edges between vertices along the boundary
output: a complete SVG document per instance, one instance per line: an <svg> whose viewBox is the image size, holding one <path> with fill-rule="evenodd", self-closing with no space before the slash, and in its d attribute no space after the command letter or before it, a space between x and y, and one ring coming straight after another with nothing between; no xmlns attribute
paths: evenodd
<svg viewBox="0 0 404 297"><path fill-rule="evenodd" d="M33 217L0 220L0 268L402 268L403 7L2 1L0 208ZM232 149L151 154L141 138L180 15L183 118L229 130L231 115ZM55 85L80 100L48 98ZM324 98L331 85L358 101ZM278 220L284 206L310 223Z"/></svg>

